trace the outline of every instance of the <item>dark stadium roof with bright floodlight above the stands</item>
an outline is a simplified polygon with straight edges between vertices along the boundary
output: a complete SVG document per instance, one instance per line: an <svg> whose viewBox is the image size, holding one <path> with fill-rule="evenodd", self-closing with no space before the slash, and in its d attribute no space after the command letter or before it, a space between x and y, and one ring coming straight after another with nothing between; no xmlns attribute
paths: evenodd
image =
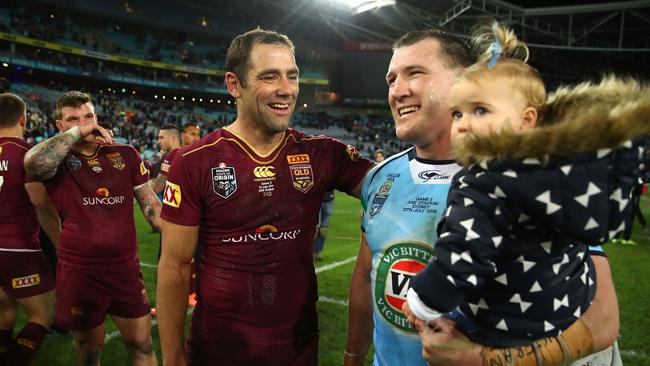
<svg viewBox="0 0 650 366"><path fill-rule="evenodd" d="M603 72L650 78L648 0L397 0L394 6L358 15L333 0L192 3L227 7L256 24L329 46L343 40L391 42L406 31L427 27L462 35L480 19L496 18L529 43L531 63L558 81Z"/></svg>

